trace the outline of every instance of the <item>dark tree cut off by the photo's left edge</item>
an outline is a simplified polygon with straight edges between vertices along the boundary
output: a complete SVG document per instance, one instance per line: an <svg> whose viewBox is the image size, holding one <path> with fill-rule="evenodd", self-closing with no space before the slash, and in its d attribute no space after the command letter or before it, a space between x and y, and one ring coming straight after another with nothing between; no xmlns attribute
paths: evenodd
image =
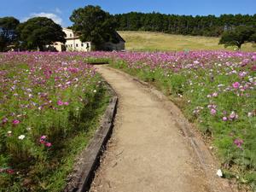
<svg viewBox="0 0 256 192"><path fill-rule="evenodd" d="M20 21L14 17L0 18L0 51L7 50L7 46L17 41L16 27Z"/></svg>

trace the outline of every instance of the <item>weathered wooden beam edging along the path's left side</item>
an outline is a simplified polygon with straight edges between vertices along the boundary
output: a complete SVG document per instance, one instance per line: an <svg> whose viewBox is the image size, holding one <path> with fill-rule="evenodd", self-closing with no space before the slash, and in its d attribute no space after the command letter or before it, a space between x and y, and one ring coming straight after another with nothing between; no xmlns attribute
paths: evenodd
<svg viewBox="0 0 256 192"><path fill-rule="evenodd" d="M113 119L117 110L118 96L108 82L104 83L112 96L108 108L90 144L79 154L73 172L67 177L67 185L63 190L64 192L84 192L90 189L90 183L99 165L100 156L113 131Z"/></svg>

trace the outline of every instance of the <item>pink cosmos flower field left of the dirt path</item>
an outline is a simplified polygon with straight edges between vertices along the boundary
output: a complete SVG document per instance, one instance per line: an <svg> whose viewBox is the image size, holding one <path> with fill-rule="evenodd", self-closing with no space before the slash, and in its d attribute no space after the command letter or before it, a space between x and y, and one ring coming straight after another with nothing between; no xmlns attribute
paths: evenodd
<svg viewBox="0 0 256 192"><path fill-rule="evenodd" d="M96 69L71 58L0 55L0 191L65 187L74 156L106 105L101 101L108 100Z"/></svg>

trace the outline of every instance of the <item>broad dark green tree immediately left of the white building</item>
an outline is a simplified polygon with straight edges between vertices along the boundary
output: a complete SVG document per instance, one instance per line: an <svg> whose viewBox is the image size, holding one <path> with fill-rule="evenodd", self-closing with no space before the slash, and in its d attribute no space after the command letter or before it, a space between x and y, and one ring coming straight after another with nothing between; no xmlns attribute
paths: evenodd
<svg viewBox="0 0 256 192"><path fill-rule="evenodd" d="M47 44L66 42L66 34L60 25L46 17L34 17L18 26L21 47L44 50Z"/></svg>

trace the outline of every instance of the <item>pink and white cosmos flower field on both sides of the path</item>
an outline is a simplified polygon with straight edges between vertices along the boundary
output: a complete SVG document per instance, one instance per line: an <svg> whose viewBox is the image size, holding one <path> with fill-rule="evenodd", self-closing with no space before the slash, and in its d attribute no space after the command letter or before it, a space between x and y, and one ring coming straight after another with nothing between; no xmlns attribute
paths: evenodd
<svg viewBox="0 0 256 192"><path fill-rule="evenodd" d="M0 55L0 186L15 179L32 184L31 177L54 164L55 151L84 124L84 105L100 102L99 76L86 64L95 61L162 90L202 132L224 177L256 189L256 53L238 51Z"/></svg>

